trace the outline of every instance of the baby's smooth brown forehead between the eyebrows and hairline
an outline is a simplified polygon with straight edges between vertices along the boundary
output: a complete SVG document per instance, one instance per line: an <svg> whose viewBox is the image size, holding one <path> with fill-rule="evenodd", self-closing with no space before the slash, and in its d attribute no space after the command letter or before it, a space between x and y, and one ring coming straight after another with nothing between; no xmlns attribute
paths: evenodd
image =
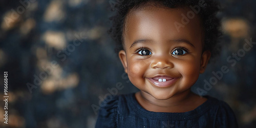
<svg viewBox="0 0 256 128"><path fill-rule="evenodd" d="M148 7L149 8L149 7ZM189 8L159 8L150 6L150 8L133 10L126 17L123 27L123 39L127 38L191 38L198 37L202 41L202 26L200 17L194 15L188 18L185 14L190 11ZM187 22L187 23L184 23ZM161 36L156 36L156 35ZM125 42L125 41L124 41Z"/></svg>

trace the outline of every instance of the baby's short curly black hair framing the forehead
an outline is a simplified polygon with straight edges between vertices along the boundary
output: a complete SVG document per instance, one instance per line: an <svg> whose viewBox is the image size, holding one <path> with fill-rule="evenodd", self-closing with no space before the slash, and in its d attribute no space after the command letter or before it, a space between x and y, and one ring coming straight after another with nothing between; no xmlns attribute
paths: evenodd
<svg viewBox="0 0 256 128"><path fill-rule="evenodd" d="M115 51L118 53L123 50L123 29L124 21L127 14L132 9L143 7L147 3L154 3L157 7L162 8L182 8L189 6L199 5L199 2L206 4L200 7L199 16L201 18L201 24L204 29L204 48L203 51L209 50L211 57L216 56L219 52L219 46L217 46L218 37L221 36L220 31L220 19L216 14L220 10L219 3L213 0L122 0L123 2L116 4L117 14L112 16L112 27L108 31L111 37L116 42Z"/></svg>

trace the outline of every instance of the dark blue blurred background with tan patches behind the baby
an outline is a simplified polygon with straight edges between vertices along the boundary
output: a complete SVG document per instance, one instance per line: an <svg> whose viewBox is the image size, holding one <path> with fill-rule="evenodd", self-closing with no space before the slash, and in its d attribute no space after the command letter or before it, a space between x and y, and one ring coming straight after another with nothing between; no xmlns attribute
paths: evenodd
<svg viewBox="0 0 256 128"><path fill-rule="evenodd" d="M99 102L136 92L106 31L119 1L0 1L0 96L8 72L8 124L0 127L94 127ZM221 56L192 90L226 101L240 127L256 126L256 1L221 1ZM250 49L249 49L250 48ZM248 50L249 49L249 50ZM237 54L237 55L236 55ZM219 79L214 72L226 66ZM212 85L205 89L205 81ZM200 92L201 91L201 92ZM4 99L4 98L3 98Z"/></svg>

